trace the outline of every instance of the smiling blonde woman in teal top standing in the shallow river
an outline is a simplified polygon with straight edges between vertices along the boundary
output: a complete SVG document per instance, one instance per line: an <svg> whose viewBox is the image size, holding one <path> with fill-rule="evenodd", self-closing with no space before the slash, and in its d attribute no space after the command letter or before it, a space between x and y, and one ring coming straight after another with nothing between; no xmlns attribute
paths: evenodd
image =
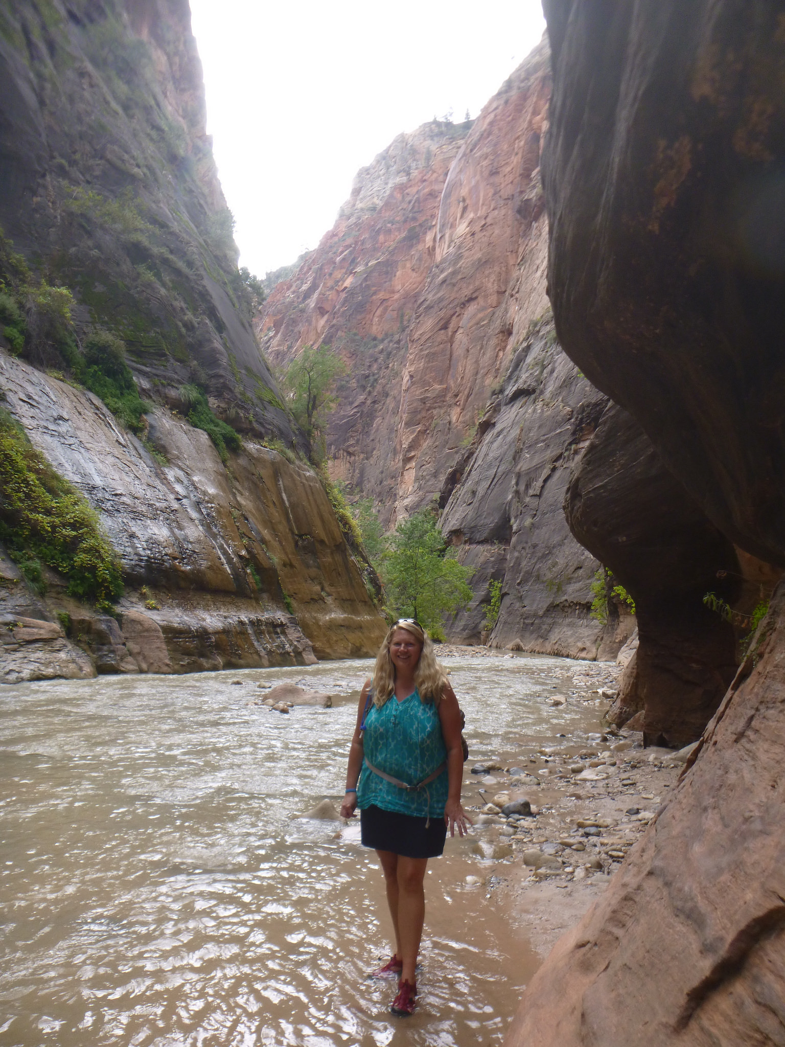
<svg viewBox="0 0 785 1047"><path fill-rule="evenodd" d="M465 836L461 806L461 710L430 637L412 619L396 622L365 682L349 754L343 818L360 807L361 839L379 855L396 950L374 977L400 975L390 1010L414 1009L414 970L425 916L429 857Z"/></svg>

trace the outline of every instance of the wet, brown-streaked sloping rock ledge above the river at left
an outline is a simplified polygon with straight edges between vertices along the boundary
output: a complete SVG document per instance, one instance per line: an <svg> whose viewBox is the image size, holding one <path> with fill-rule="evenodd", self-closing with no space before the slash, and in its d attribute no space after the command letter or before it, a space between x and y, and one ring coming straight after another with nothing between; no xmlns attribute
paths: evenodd
<svg viewBox="0 0 785 1047"><path fill-rule="evenodd" d="M33 446L98 510L127 581L115 620L67 597L51 572L45 600L17 572L0 586L9 614L67 616L71 647L98 672L305 665L377 649L385 625L365 565L307 466L249 440L226 469L205 432L156 408L163 464L91 394L1 351L0 381ZM8 678L60 675L65 655L53 653L50 670L37 655L25 675L14 652Z"/></svg>

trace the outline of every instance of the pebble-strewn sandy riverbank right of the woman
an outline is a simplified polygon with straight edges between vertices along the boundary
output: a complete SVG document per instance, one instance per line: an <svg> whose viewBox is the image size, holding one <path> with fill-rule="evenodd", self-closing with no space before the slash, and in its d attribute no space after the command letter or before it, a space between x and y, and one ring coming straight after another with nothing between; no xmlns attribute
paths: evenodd
<svg viewBox="0 0 785 1047"><path fill-rule="evenodd" d="M468 652L499 658L487 648L448 645L439 653L449 668L452 658ZM541 700L555 710L589 707L602 720L622 672L613 663L565 662L552 670L554 694ZM467 886L485 890L488 901L522 928L544 958L667 805L688 756L644 749L640 731L609 727L589 733L583 745L558 736L555 743L537 744L530 737L495 758L469 760L464 805L474 820L472 851L478 862ZM532 814L506 814L508 804L529 805Z"/></svg>

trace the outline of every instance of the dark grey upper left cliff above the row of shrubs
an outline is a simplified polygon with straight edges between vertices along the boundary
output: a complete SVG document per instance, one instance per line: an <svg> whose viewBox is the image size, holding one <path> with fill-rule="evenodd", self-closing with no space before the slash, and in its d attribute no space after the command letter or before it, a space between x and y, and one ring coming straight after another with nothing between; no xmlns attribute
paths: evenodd
<svg viewBox="0 0 785 1047"><path fill-rule="evenodd" d="M296 432L250 324L187 0L0 6L0 225L119 335L144 396L198 382L241 431ZM63 369L40 339L37 365Z"/></svg>

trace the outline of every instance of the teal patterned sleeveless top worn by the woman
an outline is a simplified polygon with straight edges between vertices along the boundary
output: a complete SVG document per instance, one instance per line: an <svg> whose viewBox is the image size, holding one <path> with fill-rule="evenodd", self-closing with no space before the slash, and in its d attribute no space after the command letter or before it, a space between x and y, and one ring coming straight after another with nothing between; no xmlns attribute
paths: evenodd
<svg viewBox="0 0 785 1047"><path fill-rule="evenodd" d="M371 703L363 732L365 756L375 767L417 785L447 759L442 721L433 701L421 701L420 692L399 701L395 694L379 709ZM363 761L357 783L357 806L381 807L412 818L441 818L447 802L447 767L417 792L385 781Z"/></svg>

